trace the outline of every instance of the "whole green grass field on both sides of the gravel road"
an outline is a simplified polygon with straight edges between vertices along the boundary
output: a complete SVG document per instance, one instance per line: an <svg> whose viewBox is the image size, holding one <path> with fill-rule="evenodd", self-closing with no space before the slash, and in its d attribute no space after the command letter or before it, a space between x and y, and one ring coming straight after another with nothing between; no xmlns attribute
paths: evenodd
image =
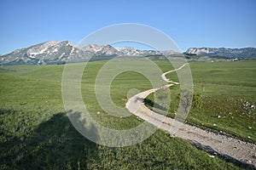
<svg viewBox="0 0 256 170"><path fill-rule="evenodd" d="M105 62L87 65L82 80L84 103L103 126L135 127L142 122L136 116L109 116L96 102L96 74ZM165 61L155 63L162 71L172 70ZM191 63L195 92L202 95L203 106L191 110L188 122L255 142L255 110L251 107L256 101L255 65L255 61ZM239 168L160 130L142 143L124 148L110 148L85 139L69 122L63 108L62 71L63 65L0 68L0 169ZM168 77L177 80L175 74ZM126 71L112 83L114 103L125 106L131 88L143 91L152 87L142 75ZM171 88L171 92L169 116L177 109L178 87ZM96 114L98 111L100 114Z"/></svg>

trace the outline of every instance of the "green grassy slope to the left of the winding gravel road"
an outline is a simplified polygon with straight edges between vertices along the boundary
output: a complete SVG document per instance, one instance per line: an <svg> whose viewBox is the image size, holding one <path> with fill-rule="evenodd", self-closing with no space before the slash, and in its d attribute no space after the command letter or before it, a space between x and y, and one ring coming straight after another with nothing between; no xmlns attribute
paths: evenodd
<svg viewBox="0 0 256 170"><path fill-rule="evenodd" d="M92 62L84 74L84 102L96 121L116 129L134 127L135 116L108 116L93 93L96 72L104 61ZM159 62L167 71L170 65ZM21 65L0 69L0 168L106 168L234 169L229 162L211 158L181 139L157 131L140 144L108 148L84 139L69 122L61 101L63 65ZM133 80L133 82L127 80ZM125 82L125 86L120 86ZM136 83L136 86L134 85ZM124 84L124 83L123 83ZM124 105L130 88L151 88L145 77L125 72L113 82L113 101ZM101 111L101 114L94 114ZM192 115L192 114L191 114Z"/></svg>

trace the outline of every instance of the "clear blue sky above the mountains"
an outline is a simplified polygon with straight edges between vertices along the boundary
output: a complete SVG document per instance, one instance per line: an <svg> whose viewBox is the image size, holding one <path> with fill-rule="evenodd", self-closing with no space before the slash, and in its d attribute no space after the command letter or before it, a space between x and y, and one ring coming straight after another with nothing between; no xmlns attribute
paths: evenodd
<svg viewBox="0 0 256 170"><path fill-rule="evenodd" d="M78 43L121 23L163 31L182 51L256 47L255 9L256 0L1 0L0 54L46 41Z"/></svg>

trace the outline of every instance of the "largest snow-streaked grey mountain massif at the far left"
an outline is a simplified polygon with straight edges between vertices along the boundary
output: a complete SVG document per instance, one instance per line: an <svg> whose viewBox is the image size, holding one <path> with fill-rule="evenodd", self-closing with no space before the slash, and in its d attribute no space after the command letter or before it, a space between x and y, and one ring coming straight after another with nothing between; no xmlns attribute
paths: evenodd
<svg viewBox="0 0 256 170"><path fill-rule="evenodd" d="M72 42L43 42L29 48L16 49L0 57L0 65L46 65L60 64L67 61L79 62L88 59L90 51L80 50Z"/></svg>

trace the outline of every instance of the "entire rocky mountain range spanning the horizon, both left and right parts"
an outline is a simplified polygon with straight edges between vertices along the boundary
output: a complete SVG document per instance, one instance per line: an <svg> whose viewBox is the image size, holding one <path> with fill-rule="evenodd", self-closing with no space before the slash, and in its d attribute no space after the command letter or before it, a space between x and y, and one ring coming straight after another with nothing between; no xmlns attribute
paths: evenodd
<svg viewBox="0 0 256 170"><path fill-rule="evenodd" d="M54 65L113 57L143 57L180 54L172 50L139 50L136 48L113 48L111 45L89 44L79 48L73 42L49 41L28 48L16 49L0 55L0 65ZM256 48L189 48L184 54L220 56L224 58L256 57Z"/></svg>

